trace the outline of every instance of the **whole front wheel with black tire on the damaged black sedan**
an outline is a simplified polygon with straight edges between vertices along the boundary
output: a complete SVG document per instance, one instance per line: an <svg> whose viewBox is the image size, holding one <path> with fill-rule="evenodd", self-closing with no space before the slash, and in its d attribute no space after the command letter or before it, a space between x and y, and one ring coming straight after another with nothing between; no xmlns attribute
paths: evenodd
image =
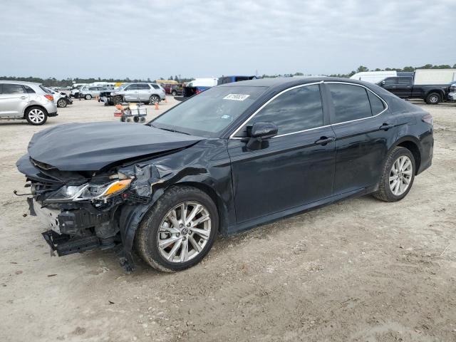
<svg viewBox="0 0 456 342"><path fill-rule="evenodd" d="M197 206L201 206L190 222L205 218L204 222L195 226L189 222L190 226L185 226L181 215L183 204L187 218L193 210L198 210ZM170 214L175 224L169 219ZM135 247L140 257L153 268L165 272L182 271L195 266L206 256L217 237L218 226L217 207L209 195L195 187L170 187L142 219L136 232ZM167 227L167 230L159 232L159 227ZM198 229L198 232L193 229ZM168 239L172 242L165 246ZM159 242L164 247L160 248Z"/></svg>

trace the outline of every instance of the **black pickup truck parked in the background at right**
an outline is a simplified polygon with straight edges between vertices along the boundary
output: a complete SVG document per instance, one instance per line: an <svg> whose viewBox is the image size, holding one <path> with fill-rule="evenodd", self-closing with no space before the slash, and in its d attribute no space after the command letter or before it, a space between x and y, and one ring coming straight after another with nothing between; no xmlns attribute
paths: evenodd
<svg viewBox="0 0 456 342"><path fill-rule="evenodd" d="M436 105L447 100L448 84L414 85L413 77L388 77L377 83L400 98L422 98L427 104Z"/></svg>

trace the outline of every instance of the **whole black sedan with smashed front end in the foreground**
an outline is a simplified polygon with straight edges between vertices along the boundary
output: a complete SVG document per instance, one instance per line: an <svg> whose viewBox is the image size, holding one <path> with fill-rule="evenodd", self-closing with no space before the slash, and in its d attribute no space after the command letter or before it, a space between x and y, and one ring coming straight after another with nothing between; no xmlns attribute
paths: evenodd
<svg viewBox="0 0 456 342"><path fill-rule="evenodd" d="M147 125L67 124L17 162L58 255L121 246L197 264L232 234L339 199L403 199L432 161L432 116L370 83L275 78L217 86Z"/></svg>

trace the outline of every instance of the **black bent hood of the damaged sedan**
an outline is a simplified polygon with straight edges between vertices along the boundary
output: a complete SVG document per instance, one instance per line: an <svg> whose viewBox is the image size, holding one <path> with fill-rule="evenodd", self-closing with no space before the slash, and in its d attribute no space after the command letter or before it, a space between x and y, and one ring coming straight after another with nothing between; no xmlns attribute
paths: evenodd
<svg viewBox="0 0 456 342"><path fill-rule="evenodd" d="M113 162L187 147L204 139L135 123L69 123L33 135L28 155L61 171L97 171Z"/></svg>

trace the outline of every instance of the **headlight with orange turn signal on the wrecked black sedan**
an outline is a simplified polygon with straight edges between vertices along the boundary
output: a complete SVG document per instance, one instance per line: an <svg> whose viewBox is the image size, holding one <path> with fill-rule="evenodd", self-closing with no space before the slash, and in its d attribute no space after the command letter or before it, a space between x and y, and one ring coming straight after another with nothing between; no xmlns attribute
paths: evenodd
<svg viewBox="0 0 456 342"><path fill-rule="evenodd" d="M116 180L107 184L86 183L83 185L64 185L53 192L45 202L78 202L91 199L108 199L124 192L132 180Z"/></svg>

